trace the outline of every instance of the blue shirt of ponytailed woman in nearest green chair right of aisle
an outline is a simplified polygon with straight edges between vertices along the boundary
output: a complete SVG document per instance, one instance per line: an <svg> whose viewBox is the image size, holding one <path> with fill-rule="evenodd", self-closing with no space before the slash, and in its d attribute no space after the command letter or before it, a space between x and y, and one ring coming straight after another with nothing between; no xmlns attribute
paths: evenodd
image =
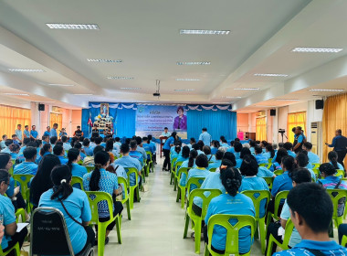
<svg viewBox="0 0 347 256"><path fill-rule="evenodd" d="M228 194L223 194L213 198L208 205L205 216L205 223L207 225L208 219L215 214L250 215L255 217L256 210L254 208L252 199L245 195L237 194L235 197L232 197ZM229 221L232 225L237 223L237 219L231 219ZM211 238L209 238L209 240L211 240ZM226 250L226 229L215 226L211 243L216 250ZM239 252L247 253L250 250L252 243L253 241L250 239L250 228L245 227L240 229L238 232Z"/></svg>

